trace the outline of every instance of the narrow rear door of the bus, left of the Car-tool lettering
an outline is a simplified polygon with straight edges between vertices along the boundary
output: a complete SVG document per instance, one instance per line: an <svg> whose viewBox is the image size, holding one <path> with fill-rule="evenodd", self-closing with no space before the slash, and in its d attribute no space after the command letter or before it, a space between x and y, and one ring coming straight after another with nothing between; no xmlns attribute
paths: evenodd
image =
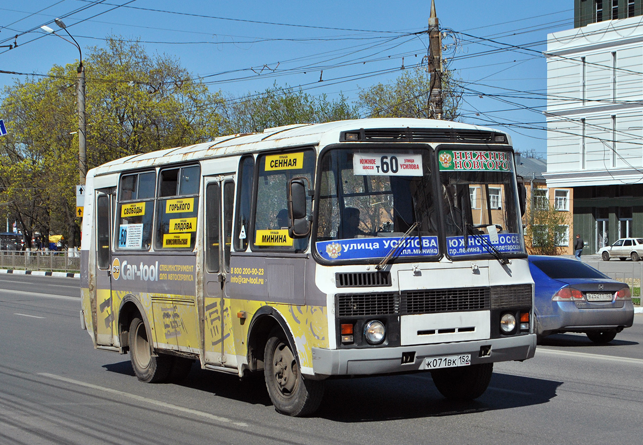
<svg viewBox="0 0 643 445"><path fill-rule="evenodd" d="M96 313L96 343L99 345L113 345L116 336L111 291L114 197L112 189L96 190L96 307L93 309Z"/></svg>

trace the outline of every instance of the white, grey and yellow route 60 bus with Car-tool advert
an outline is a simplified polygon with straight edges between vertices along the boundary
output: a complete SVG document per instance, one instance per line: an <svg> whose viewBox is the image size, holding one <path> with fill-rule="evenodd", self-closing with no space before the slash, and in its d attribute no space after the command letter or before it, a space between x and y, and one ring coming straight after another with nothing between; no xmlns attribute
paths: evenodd
<svg viewBox="0 0 643 445"><path fill-rule="evenodd" d="M87 174L82 325L141 381L262 371L307 415L331 377L431 372L448 398L534 356L521 188L503 132L290 125Z"/></svg>

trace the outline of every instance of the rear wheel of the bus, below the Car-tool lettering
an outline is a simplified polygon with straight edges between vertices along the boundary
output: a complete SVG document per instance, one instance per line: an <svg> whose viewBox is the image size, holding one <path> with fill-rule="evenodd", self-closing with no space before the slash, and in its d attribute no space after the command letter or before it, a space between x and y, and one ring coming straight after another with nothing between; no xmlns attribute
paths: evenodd
<svg viewBox="0 0 643 445"><path fill-rule="evenodd" d="M129 358L136 378L145 383L165 381L172 369L172 357L163 354L152 356L145 323L138 317L134 317L129 325Z"/></svg>

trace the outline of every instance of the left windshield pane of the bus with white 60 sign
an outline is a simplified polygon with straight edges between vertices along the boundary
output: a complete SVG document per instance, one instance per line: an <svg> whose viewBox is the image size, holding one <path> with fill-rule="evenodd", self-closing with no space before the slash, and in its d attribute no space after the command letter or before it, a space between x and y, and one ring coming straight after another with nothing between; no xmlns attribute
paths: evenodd
<svg viewBox="0 0 643 445"><path fill-rule="evenodd" d="M439 215L427 149L332 149L320 159L316 247L323 259L437 256ZM408 233L407 233L408 232Z"/></svg>

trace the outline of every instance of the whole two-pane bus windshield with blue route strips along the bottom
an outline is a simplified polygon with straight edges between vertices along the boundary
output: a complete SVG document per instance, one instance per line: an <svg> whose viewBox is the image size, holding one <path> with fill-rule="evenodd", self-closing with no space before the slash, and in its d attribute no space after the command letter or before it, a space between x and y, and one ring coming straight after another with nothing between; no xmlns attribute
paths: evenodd
<svg viewBox="0 0 643 445"><path fill-rule="evenodd" d="M449 257L523 253L510 152L440 150L437 172L431 156L401 146L323 153L320 257L378 259L395 249L395 257L438 259L440 236ZM481 167L459 159L476 156L493 162Z"/></svg>

